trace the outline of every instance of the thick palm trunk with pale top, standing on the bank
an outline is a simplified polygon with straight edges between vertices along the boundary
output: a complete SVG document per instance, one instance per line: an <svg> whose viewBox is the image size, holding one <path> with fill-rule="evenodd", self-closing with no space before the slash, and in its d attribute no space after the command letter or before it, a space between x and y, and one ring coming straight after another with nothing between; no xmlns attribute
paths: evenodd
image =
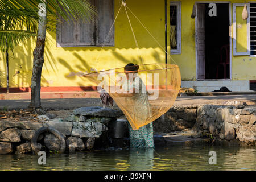
<svg viewBox="0 0 256 182"><path fill-rule="evenodd" d="M33 52L33 69L31 78L31 101L28 108L41 108L41 74L44 64L44 46L46 42L46 4L40 3L39 7L39 24L38 36L36 39L36 47Z"/></svg>

